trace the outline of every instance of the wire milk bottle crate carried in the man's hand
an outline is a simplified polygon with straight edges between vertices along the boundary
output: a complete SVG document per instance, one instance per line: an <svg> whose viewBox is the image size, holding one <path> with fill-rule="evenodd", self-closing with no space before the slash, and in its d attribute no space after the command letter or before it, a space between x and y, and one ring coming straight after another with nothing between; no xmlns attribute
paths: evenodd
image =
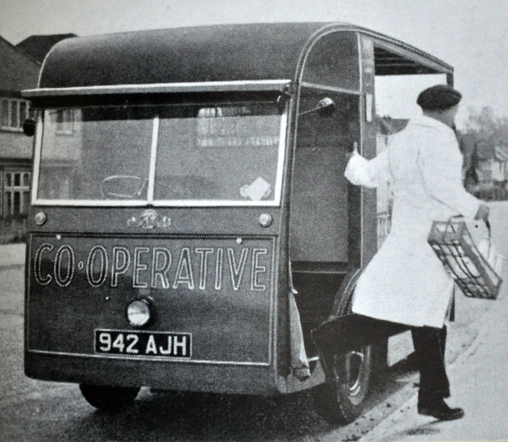
<svg viewBox="0 0 508 442"><path fill-rule="evenodd" d="M490 225L488 222L486 225L490 242ZM497 298L502 283L499 273L503 257L494 252L495 256L489 259L489 263L490 250L486 253L487 257L480 252L463 220L452 217L449 221L434 221L428 243L464 295Z"/></svg>

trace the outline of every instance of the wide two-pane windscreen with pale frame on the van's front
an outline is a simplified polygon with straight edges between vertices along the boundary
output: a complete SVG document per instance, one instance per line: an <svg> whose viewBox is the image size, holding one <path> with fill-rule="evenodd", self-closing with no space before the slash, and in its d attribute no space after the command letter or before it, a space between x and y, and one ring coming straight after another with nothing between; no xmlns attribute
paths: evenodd
<svg viewBox="0 0 508 442"><path fill-rule="evenodd" d="M46 109L36 199L278 204L281 124L264 101Z"/></svg>

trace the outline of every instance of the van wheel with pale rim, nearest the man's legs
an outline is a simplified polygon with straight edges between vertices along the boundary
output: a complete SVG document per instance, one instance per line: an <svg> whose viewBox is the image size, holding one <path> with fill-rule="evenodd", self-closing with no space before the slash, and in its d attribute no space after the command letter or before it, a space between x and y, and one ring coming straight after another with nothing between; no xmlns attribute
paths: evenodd
<svg viewBox="0 0 508 442"><path fill-rule="evenodd" d="M345 355L334 355L334 377L327 377L316 389L316 408L330 424L347 424L363 411L372 370L372 346L360 347ZM330 367L331 368L331 367Z"/></svg>

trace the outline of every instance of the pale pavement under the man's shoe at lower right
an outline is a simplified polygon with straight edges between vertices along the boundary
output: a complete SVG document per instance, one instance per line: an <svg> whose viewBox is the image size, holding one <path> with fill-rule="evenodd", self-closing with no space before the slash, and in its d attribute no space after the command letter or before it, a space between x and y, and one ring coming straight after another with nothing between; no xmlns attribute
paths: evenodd
<svg viewBox="0 0 508 442"><path fill-rule="evenodd" d="M447 401L463 407L465 416L456 421L421 416L415 394L361 442L508 440L508 297L493 302L471 347L448 367L452 397Z"/></svg>

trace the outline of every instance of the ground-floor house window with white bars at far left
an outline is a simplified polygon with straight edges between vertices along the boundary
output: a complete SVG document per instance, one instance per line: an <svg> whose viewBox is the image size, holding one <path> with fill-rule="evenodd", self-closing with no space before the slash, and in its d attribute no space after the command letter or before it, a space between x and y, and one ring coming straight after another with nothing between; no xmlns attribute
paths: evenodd
<svg viewBox="0 0 508 442"><path fill-rule="evenodd" d="M3 216L28 213L30 172L4 172Z"/></svg>

